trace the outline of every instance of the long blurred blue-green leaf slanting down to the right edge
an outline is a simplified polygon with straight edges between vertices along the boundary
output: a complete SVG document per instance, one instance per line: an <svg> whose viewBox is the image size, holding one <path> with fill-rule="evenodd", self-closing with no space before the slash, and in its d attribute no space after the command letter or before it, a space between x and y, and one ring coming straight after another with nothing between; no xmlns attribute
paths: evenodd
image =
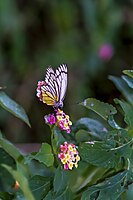
<svg viewBox="0 0 133 200"><path fill-rule="evenodd" d="M119 77L115 76L109 76L109 79L113 81L113 83L116 85L118 90L124 95L124 97L133 104L133 90L130 88L127 83Z"/></svg>

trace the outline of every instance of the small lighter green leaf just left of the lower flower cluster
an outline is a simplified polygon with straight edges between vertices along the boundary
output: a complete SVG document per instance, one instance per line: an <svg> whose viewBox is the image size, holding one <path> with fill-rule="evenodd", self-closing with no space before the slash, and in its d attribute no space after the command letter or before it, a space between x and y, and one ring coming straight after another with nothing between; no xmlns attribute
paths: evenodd
<svg viewBox="0 0 133 200"><path fill-rule="evenodd" d="M51 146L47 143L42 143L39 152L34 156L34 159L45 164L47 167L53 166L54 156Z"/></svg>

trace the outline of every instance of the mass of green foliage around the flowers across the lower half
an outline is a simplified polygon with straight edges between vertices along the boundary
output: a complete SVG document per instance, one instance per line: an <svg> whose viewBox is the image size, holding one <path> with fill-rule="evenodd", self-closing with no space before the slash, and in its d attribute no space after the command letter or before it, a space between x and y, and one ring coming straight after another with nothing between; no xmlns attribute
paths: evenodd
<svg viewBox="0 0 133 200"><path fill-rule="evenodd" d="M124 73L126 77L111 77L111 80L120 90L124 86L123 94L127 101L115 99L114 106L88 98L80 103L104 120L83 117L73 124L70 134L52 125L51 145L42 143L38 152L28 155L23 155L0 134L1 199L119 200L125 194L128 196L128 186L133 183L133 88L132 71ZM127 91L127 88L130 89ZM16 103L12 104L12 100L7 98L9 102L6 104L2 100L6 105L3 107L16 113ZM23 109L19 109L19 118L25 121L20 117L23 113ZM123 117L124 126L120 121L117 124L117 114ZM60 145L65 141L76 145L81 159L78 167L72 170L64 170L58 158ZM16 181L18 188L15 188Z"/></svg>

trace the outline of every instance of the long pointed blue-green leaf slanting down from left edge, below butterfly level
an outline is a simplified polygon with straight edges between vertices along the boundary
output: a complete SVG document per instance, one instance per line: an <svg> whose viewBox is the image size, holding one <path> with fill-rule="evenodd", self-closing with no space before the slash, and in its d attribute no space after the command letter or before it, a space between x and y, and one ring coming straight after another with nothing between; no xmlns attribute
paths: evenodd
<svg viewBox="0 0 133 200"><path fill-rule="evenodd" d="M24 109L2 91L0 91L0 105L31 127Z"/></svg>

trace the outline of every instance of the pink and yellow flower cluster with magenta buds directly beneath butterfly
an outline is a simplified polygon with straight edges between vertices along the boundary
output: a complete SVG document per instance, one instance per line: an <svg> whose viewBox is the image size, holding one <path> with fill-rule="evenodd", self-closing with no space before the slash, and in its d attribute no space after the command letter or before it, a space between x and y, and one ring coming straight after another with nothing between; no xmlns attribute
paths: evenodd
<svg viewBox="0 0 133 200"><path fill-rule="evenodd" d="M56 110L55 115L49 114L45 116L45 122L50 125L56 124L61 130L64 130L67 133L71 132L70 126L72 125L72 122L69 120L69 116L60 109Z"/></svg>

